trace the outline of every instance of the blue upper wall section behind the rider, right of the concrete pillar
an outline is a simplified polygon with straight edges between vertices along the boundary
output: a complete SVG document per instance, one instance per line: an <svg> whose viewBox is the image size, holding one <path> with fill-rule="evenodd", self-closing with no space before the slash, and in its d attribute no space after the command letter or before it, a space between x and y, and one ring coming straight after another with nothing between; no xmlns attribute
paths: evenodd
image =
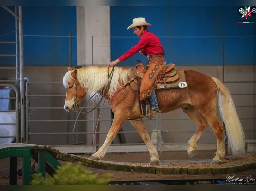
<svg viewBox="0 0 256 191"><path fill-rule="evenodd" d="M135 17L145 17L153 27L149 31L159 36L167 63L178 65L222 65L223 37L225 38L225 64L255 64L256 24L237 24L244 20L238 7L111 7L111 60L115 60L139 37L133 29L126 30ZM248 18L256 20L256 16ZM239 36L239 37L231 37ZM139 53L119 65L134 65L146 57Z"/></svg>

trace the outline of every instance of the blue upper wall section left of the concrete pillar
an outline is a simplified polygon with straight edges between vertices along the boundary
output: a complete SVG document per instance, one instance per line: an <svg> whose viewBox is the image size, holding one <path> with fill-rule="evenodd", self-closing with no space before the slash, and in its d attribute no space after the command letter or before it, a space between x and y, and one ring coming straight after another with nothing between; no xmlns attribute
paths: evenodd
<svg viewBox="0 0 256 191"><path fill-rule="evenodd" d="M14 7L9 7L14 11ZM0 41L15 41L15 19L0 7ZM69 65L69 33L76 36L76 7L23 6L24 65ZM52 37L45 37L52 36ZM77 64L76 37L71 41L72 65ZM0 44L0 54L15 54L15 46ZM0 57L0 65L15 58Z"/></svg>

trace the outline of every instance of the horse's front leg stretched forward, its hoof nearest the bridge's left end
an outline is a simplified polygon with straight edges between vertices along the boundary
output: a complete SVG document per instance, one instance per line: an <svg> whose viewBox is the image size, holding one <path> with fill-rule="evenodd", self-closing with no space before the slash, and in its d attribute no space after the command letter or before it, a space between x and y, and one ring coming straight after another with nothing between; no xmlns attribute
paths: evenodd
<svg viewBox="0 0 256 191"><path fill-rule="evenodd" d="M100 160L105 156L110 143L114 140L116 134L121 129L126 119L127 118L123 115L123 113L115 113L113 123L111 125L111 128L109 129L105 142L96 153L92 154L92 156L89 157L89 159Z"/></svg>

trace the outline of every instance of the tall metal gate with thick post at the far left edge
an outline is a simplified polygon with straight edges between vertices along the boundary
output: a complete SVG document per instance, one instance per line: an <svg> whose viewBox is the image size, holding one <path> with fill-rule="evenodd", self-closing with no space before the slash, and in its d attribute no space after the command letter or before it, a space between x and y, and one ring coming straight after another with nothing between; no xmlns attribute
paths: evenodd
<svg viewBox="0 0 256 191"><path fill-rule="evenodd" d="M1 37L6 35L13 35L15 41L1 41L0 46L10 46L15 45L14 52L0 53L0 57L14 57L15 63L4 63L0 67L1 70L11 71L12 76L4 77L0 79L0 88L2 95L0 95L0 100L2 101L2 106L4 103L7 105L0 109L1 113L4 114L3 122L0 123L3 129L9 132L10 125L16 126L15 135L0 136L0 139L5 140L6 138L16 138L16 142L23 142L25 137L25 102L24 102L24 77L23 77L23 26L22 26L22 7L15 6L15 11L12 11L6 6L1 6L1 9L5 9L15 18L15 30L10 31L6 34L3 34ZM7 13L8 14L8 13ZM11 48L6 48L10 50ZM5 67L7 66L7 67ZM8 73L8 72L6 72ZM11 93L13 93L11 95ZM10 104L14 103L11 108ZM8 122L6 113L9 115L13 114L13 117L16 118L15 122Z"/></svg>

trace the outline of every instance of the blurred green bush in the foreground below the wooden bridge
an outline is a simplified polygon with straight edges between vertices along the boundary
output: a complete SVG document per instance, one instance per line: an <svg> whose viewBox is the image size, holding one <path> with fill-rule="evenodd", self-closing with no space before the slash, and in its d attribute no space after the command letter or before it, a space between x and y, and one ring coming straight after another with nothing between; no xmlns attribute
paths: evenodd
<svg viewBox="0 0 256 191"><path fill-rule="evenodd" d="M33 174L31 185L105 185L112 174L107 173L102 177L92 174L81 165L73 165L67 162L60 166L53 177L42 177L41 174Z"/></svg>

